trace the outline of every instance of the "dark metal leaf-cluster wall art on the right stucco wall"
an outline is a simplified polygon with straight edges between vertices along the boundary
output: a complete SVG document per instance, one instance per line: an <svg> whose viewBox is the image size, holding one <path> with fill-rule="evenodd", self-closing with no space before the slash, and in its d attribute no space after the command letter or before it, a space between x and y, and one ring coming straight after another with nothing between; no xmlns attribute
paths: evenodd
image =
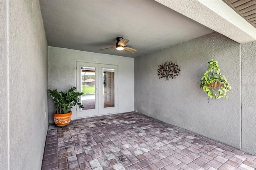
<svg viewBox="0 0 256 170"><path fill-rule="evenodd" d="M169 80L169 77L176 79L176 76L180 75L180 67L177 62L172 63L172 61L167 61L163 65L158 65L157 74L159 79L166 77L166 80Z"/></svg>

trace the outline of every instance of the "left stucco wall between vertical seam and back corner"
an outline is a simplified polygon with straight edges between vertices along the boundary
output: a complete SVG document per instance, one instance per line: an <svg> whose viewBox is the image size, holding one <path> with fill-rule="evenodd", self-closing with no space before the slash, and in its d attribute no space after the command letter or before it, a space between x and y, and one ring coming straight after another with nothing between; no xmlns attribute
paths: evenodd
<svg viewBox="0 0 256 170"><path fill-rule="evenodd" d="M48 129L46 36L39 1L8 3L10 169L39 170Z"/></svg>

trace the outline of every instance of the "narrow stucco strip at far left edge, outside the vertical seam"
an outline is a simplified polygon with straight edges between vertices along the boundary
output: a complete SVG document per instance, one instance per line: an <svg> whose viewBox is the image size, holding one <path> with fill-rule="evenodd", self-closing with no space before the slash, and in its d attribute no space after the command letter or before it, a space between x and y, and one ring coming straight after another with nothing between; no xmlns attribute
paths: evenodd
<svg viewBox="0 0 256 170"><path fill-rule="evenodd" d="M6 1L0 1L0 167L8 169L8 56Z"/></svg>

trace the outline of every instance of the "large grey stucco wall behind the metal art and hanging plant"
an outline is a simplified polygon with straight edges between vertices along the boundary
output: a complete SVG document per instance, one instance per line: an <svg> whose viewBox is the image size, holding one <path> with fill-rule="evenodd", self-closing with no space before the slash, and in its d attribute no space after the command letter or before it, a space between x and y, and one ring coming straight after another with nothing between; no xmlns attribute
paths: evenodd
<svg viewBox="0 0 256 170"><path fill-rule="evenodd" d="M212 59L212 34L135 58L135 111L240 148L240 44L214 36L214 54L232 85L229 100L211 99L200 79ZM158 79L158 65L177 61L176 79Z"/></svg>

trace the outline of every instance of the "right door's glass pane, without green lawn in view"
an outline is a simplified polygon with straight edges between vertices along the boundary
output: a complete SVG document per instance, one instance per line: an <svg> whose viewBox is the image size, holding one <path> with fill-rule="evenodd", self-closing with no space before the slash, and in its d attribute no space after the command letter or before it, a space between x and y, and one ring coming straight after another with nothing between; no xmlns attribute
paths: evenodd
<svg viewBox="0 0 256 170"><path fill-rule="evenodd" d="M103 68L103 108L115 107L115 69Z"/></svg>

